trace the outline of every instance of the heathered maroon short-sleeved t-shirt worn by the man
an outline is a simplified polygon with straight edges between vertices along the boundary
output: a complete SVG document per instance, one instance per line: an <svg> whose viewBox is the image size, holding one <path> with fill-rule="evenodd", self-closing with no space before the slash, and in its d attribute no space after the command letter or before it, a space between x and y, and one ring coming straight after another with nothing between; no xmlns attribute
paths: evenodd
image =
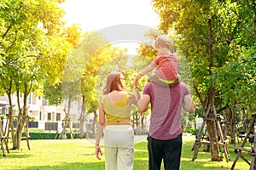
<svg viewBox="0 0 256 170"><path fill-rule="evenodd" d="M154 139L174 139L182 133L181 108L189 88L183 82L164 87L147 82L143 94L150 96L151 117L149 135Z"/></svg>

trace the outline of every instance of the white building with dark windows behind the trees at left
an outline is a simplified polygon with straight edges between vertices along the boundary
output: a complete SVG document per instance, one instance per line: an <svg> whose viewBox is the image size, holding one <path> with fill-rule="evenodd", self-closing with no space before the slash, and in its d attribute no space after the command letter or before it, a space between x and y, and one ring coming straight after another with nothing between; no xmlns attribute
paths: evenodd
<svg viewBox="0 0 256 170"><path fill-rule="evenodd" d="M12 94L13 103L13 115L18 115L18 96L17 94ZM23 106L23 96L19 96L20 107ZM71 107L69 111L69 117L71 121L72 128L79 128L79 116L81 114L81 101L71 102ZM34 117L33 122L29 122L29 127L36 127L44 130L59 130L62 128L62 121L65 119L65 111L67 111L67 101L64 101L62 105L48 105L46 99L41 96L36 96L35 94L29 94L27 96L27 114L28 116ZM6 94L0 96L0 116L6 115L9 112L9 99ZM91 127L91 121L93 117L91 114L86 116L84 122L84 132L88 131ZM6 119L3 120L3 123ZM89 127L88 127L89 126Z"/></svg>

